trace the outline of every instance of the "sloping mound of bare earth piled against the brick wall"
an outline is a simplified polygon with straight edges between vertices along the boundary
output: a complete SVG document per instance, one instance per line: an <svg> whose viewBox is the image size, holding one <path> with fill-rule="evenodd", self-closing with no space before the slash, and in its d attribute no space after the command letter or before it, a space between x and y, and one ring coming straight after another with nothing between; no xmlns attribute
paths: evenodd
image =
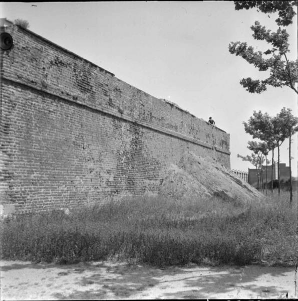
<svg viewBox="0 0 298 301"><path fill-rule="evenodd" d="M247 202L261 194L215 159L206 160L185 153L178 165L172 165L159 195L172 199L219 197L225 201Z"/></svg>

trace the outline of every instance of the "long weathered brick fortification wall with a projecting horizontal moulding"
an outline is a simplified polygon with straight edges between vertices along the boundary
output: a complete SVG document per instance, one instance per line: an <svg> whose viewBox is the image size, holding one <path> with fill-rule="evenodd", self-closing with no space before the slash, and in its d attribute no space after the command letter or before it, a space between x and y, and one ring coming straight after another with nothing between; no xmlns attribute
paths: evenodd
<svg viewBox="0 0 298 301"><path fill-rule="evenodd" d="M17 212L156 194L185 150L229 165L229 135L17 26L3 55L1 198Z"/></svg>

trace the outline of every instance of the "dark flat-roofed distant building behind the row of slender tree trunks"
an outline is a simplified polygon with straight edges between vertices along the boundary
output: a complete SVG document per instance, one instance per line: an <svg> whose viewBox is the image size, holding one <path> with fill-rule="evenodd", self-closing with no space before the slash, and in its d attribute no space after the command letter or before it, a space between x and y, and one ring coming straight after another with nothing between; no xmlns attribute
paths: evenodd
<svg viewBox="0 0 298 301"><path fill-rule="evenodd" d="M263 183L266 184L266 166L262 166L262 172L263 172ZM273 165L273 183L274 180L278 179L277 176L277 163ZM279 164L279 172L280 172L280 181L285 183L289 180L289 167L285 166L285 163ZM292 178L292 186L296 187L297 181L295 181L295 178ZM256 169L248 169L248 183L252 185L253 187L257 187L257 170ZM271 183L271 165L267 166L267 183Z"/></svg>

